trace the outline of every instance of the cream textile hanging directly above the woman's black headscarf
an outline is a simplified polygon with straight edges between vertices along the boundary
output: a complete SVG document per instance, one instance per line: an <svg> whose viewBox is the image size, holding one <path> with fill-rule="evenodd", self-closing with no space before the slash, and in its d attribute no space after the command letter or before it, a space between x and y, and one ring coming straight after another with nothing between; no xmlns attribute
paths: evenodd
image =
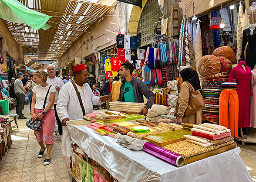
<svg viewBox="0 0 256 182"><path fill-rule="evenodd" d="M198 63L202 58L202 36L199 20L197 21L196 33L195 33L195 68L198 72ZM198 72L199 73L199 72Z"/></svg>

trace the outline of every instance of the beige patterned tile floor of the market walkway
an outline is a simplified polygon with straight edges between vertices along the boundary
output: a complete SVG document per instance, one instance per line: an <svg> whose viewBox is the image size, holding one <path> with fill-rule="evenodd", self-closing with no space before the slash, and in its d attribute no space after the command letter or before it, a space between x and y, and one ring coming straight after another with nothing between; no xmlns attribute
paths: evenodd
<svg viewBox="0 0 256 182"><path fill-rule="evenodd" d="M52 162L44 166L45 156L37 157L40 146L34 131L25 125L31 117L29 105L25 105L23 113L27 119L17 120L20 130L11 133L13 144L0 161L0 182L71 182L70 159L61 153L60 136L54 136Z"/></svg>

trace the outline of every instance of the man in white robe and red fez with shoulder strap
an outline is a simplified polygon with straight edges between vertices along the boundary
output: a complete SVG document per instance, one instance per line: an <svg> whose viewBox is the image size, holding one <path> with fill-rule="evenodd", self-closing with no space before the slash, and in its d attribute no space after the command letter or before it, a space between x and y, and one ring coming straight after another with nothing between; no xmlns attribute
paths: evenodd
<svg viewBox="0 0 256 182"><path fill-rule="evenodd" d="M87 83L88 71L84 64L74 65L73 71L73 81L77 86L77 90L80 92L85 114L92 113L92 105L101 105L105 101L110 100L108 95L97 97L92 93L91 88ZM61 152L64 156L70 157L72 153L70 144L71 138L68 134L66 121L83 119L84 117L80 102L71 81L68 81L66 84L64 84L59 92L57 101L57 114L61 120L62 125L64 126Z"/></svg>

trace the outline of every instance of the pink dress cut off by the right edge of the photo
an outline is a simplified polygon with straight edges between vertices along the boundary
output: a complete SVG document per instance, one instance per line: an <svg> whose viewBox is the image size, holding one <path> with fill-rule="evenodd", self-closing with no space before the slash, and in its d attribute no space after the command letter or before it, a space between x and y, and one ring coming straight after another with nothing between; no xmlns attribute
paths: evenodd
<svg viewBox="0 0 256 182"><path fill-rule="evenodd" d="M250 127L256 128L256 71L252 70L253 97L250 101Z"/></svg>

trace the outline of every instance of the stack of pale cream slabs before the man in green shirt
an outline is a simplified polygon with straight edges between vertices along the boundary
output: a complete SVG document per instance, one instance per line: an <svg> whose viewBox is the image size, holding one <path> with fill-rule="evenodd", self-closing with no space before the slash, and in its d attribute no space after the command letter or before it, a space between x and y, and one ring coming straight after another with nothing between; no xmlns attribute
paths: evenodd
<svg viewBox="0 0 256 182"><path fill-rule="evenodd" d="M144 103L136 103L136 102L110 102L109 109L110 110L117 110L123 112L131 112L131 113L139 113L144 107Z"/></svg>

